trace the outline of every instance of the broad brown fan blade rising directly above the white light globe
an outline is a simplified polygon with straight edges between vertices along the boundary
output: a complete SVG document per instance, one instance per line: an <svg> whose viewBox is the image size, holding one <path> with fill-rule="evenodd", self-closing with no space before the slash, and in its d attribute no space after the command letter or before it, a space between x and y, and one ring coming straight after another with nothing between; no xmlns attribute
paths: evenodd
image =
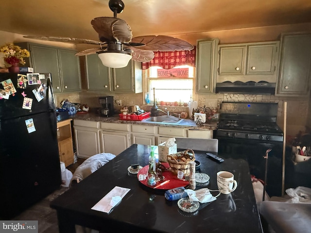
<svg viewBox="0 0 311 233"><path fill-rule="evenodd" d="M120 18L97 17L91 21L91 24L102 42L116 40L128 43L133 36L130 26Z"/></svg>

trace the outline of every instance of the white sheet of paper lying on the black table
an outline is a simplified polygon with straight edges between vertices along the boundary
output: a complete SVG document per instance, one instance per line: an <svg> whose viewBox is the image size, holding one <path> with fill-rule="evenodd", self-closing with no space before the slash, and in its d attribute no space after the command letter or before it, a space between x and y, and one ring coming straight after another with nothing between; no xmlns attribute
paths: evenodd
<svg viewBox="0 0 311 233"><path fill-rule="evenodd" d="M121 197L123 198L131 189L130 188L122 188L119 186L115 186L109 193L104 196L100 201L98 201L91 209L101 211L109 214L111 209L114 207L110 205L110 202L113 197Z"/></svg>

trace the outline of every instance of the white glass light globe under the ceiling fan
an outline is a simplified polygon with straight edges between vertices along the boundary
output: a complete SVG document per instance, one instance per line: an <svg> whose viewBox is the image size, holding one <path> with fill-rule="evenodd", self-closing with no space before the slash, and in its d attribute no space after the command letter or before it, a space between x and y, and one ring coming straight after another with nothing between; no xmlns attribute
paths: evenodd
<svg viewBox="0 0 311 233"><path fill-rule="evenodd" d="M110 52L104 51L98 54L105 67L122 68L126 67L131 60L132 55L127 52Z"/></svg>

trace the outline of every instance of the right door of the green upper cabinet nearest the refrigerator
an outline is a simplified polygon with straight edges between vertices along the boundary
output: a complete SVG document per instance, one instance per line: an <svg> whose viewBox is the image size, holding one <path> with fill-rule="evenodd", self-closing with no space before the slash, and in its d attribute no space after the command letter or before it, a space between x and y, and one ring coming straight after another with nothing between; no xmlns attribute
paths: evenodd
<svg viewBox="0 0 311 233"><path fill-rule="evenodd" d="M58 50L63 92L80 91L80 63L76 51Z"/></svg>

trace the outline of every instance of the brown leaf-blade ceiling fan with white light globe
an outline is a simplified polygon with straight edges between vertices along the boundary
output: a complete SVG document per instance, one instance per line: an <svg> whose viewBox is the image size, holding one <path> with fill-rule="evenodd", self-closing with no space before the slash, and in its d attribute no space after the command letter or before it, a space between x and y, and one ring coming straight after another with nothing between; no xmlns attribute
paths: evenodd
<svg viewBox="0 0 311 233"><path fill-rule="evenodd" d="M31 39L69 42L75 44L99 45L99 48L78 52L77 56L98 53L98 57L106 67L126 67L132 59L138 62L149 62L155 54L153 51L182 51L192 50L193 46L187 41L166 35L146 35L132 38L130 26L117 14L124 9L121 0L109 0L109 8L114 17L96 17L91 25L99 35L100 41L77 39L69 37L24 36Z"/></svg>

